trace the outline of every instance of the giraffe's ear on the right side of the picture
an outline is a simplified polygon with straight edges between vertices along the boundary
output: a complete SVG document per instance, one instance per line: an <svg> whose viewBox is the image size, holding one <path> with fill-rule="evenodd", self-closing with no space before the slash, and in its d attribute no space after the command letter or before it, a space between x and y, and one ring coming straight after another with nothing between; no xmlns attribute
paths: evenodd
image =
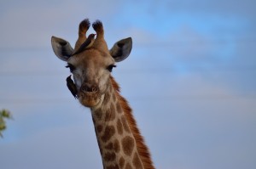
<svg viewBox="0 0 256 169"><path fill-rule="evenodd" d="M129 54L131 53L131 48L132 39L131 37L128 37L114 43L113 47L109 50L109 52L116 62L120 62L129 56Z"/></svg>

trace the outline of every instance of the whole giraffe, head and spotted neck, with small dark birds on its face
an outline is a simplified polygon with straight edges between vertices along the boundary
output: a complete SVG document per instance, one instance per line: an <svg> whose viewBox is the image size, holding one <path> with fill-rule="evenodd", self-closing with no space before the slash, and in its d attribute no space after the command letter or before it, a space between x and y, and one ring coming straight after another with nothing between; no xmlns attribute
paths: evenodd
<svg viewBox="0 0 256 169"><path fill-rule="evenodd" d="M95 34L86 37L90 21L80 22L74 49L66 40L51 37L55 55L67 62L66 67L73 74L73 80L67 77L67 87L80 104L90 108L104 169L153 169L131 107L111 75L115 62L131 53L131 37L114 43L109 50L102 22L96 20L92 27L96 38Z"/></svg>

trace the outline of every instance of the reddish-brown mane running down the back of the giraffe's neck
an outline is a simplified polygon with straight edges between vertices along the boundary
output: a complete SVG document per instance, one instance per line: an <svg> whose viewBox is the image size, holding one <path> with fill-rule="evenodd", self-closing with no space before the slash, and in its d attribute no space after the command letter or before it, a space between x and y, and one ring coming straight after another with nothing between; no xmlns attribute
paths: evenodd
<svg viewBox="0 0 256 169"><path fill-rule="evenodd" d="M124 99L119 94L120 89L119 89L118 83L114 81L112 76L110 76L110 80L112 82L113 88L116 90L116 94L119 99L119 103L121 104L121 106L125 112L125 117L129 123L129 127L131 128L131 132L132 132L134 138L136 139L137 150L138 150L141 160L143 161L143 166L145 169L154 169L153 162L151 161L151 155L148 151L148 147L146 146L146 144L144 144L144 138L142 137L139 129L137 128L137 122L135 121L135 119L132 115L132 110L131 110L129 104L127 103L126 99Z"/></svg>

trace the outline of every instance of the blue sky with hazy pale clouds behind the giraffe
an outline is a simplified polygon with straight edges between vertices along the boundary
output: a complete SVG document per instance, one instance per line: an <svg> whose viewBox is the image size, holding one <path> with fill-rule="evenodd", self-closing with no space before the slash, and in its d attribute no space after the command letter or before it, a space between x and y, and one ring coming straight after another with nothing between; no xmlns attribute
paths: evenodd
<svg viewBox="0 0 256 169"><path fill-rule="evenodd" d="M74 44L84 18L108 47L132 37L113 76L160 169L256 167L253 0L2 1L0 139L4 169L102 168L90 110L66 87L50 37ZM92 29L90 30L90 32Z"/></svg>

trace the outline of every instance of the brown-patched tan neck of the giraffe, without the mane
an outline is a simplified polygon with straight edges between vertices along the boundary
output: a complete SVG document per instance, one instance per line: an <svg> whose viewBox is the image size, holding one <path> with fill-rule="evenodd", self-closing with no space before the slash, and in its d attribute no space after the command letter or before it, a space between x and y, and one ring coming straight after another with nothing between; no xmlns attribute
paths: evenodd
<svg viewBox="0 0 256 169"><path fill-rule="evenodd" d="M143 169L136 138L131 132L117 93L113 85L109 85L101 106L91 109L103 166L105 169Z"/></svg>

